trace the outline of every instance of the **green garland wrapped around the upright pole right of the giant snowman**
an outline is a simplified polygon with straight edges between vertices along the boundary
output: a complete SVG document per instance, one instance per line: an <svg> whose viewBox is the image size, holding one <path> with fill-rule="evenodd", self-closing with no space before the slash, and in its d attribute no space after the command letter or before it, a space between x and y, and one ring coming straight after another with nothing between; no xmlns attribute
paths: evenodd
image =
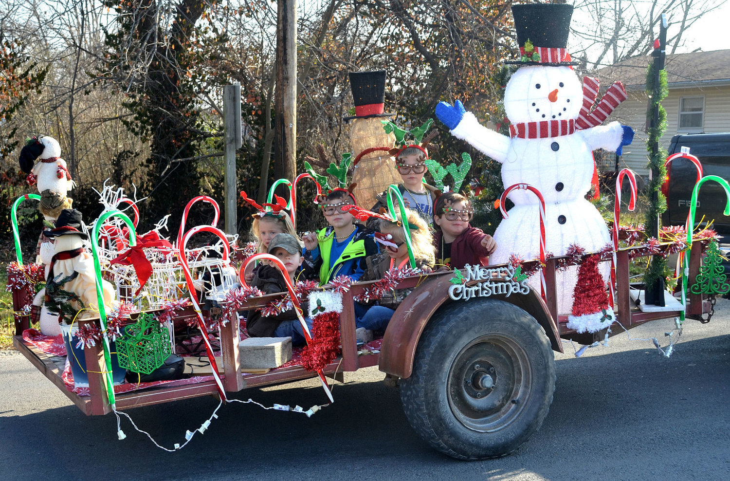
<svg viewBox="0 0 730 481"><path fill-rule="evenodd" d="M669 88L666 86L666 70L664 69L659 71L659 85L658 88L656 87L654 82L656 76L655 69L656 62L652 62L646 72L646 93L649 96L647 117L653 115L654 109L657 107L659 112L657 122L650 126L647 132L648 139L646 141L646 147L649 151L648 169L652 172L658 172L658 175L654 175L647 185L647 195L650 199L645 221L647 237L656 235L653 232L652 226L655 226L659 222L659 216L666 210L666 198L661 193L661 183L666 176L666 168L664 167L666 150L659 145L659 140L664 134L664 131L666 131L666 111L661 106L661 101L666 98L669 93ZM654 193L656 193L656 201L653 200L655 199ZM665 268L666 259L660 255L654 255L644 274L644 285L647 288L655 285L659 279L664 277Z"/></svg>

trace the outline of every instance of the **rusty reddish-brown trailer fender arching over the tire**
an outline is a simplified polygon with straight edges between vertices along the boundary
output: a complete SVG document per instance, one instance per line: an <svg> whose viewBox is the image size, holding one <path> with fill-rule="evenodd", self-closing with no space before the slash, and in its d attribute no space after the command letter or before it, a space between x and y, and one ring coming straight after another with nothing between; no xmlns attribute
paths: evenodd
<svg viewBox="0 0 730 481"><path fill-rule="evenodd" d="M475 285L477 282L469 282ZM380 370L393 376L410 377L413 368L413 358L420 335L431 317L445 304L452 302L448 296L450 276L441 276L424 282L414 289L399 305L388 323L380 347ZM479 302L480 299L501 299L524 309L537 320L550 339L553 350L563 352L563 345L558 334L556 321L548 311L545 301L530 289L527 294L512 294L511 296L490 296L476 298L465 302Z"/></svg>

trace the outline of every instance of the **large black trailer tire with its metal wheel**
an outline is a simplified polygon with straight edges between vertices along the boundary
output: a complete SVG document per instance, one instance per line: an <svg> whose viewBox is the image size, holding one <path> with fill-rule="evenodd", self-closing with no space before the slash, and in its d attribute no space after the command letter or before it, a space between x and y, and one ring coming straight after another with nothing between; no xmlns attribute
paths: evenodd
<svg viewBox="0 0 730 481"><path fill-rule="evenodd" d="M413 372L401 380L401 401L434 449L464 460L499 458L542 426L555 379L550 340L531 315L496 299L461 302L429 321Z"/></svg>

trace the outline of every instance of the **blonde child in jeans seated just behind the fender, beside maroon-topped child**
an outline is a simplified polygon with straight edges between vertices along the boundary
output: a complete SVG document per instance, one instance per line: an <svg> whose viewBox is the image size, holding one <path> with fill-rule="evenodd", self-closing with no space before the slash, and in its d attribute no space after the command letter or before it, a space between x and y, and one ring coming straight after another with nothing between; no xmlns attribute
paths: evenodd
<svg viewBox="0 0 730 481"><path fill-rule="evenodd" d="M434 266L434 239L428 224L415 210L406 210L406 221L410 227L411 246L416 267L423 272L431 272ZM401 220L401 218L398 218ZM381 245L380 253L366 258L367 269L361 280L377 280L390 269L410 266L408 247L403 227L396 222L380 220L380 232L375 234L376 242ZM373 331L385 331L396 307L410 293L410 289L398 289L388 293L373 305L365 314L356 319L356 335L359 341L372 340Z"/></svg>

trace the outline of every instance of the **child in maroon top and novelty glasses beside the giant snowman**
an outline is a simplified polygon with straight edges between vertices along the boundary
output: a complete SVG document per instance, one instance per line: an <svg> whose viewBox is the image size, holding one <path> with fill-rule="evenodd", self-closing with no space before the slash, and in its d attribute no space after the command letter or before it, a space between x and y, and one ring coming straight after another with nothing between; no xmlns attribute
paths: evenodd
<svg viewBox="0 0 730 481"><path fill-rule="evenodd" d="M464 269L466 264L488 265L488 256L497 244L492 236L469 224L473 217L471 201L460 193L451 191L439 196L434 206L437 266Z"/></svg>

